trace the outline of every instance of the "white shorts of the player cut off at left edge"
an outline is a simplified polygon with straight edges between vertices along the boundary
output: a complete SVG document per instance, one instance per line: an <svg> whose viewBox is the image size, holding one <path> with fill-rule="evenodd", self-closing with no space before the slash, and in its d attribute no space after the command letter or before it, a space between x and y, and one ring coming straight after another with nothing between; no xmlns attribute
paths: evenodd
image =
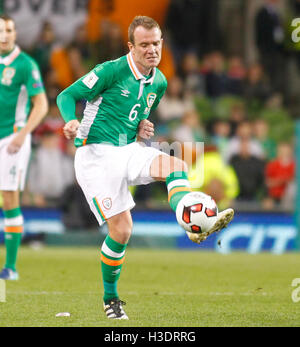
<svg viewBox="0 0 300 347"><path fill-rule="evenodd" d="M16 133L0 139L0 190L24 190L31 153L31 135L26 136L23 146L17 153L9 154L7 147L14 136Z"/></svg>

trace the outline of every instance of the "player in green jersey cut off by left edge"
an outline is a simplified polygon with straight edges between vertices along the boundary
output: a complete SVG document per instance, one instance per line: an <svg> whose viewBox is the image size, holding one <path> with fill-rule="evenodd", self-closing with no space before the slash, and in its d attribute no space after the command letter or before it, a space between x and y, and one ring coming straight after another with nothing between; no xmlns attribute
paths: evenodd
<svg viewBox="0 0 300 347"><path fill-rule="evenodd" d="M38 66L15 42L14 21L1 15L0 191L3 197L6 263L0 272L0 279L5 280L18 279L16 262L23 232L19 195L24 188L30 156L30 134L48 110Z"/></svg>

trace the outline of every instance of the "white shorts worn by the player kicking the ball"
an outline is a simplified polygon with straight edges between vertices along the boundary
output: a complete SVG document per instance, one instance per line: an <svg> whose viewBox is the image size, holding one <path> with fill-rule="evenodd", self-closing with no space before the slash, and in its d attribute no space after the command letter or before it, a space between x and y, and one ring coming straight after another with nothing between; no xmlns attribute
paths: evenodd
<svg viewBox="0 0 300 347"><path fill-rule="evenodd" d="M164 155L138 142L126 146L90 144L75 155L77 181L99 225L135 206L129 186L148 184L153 159Z"/></svg>

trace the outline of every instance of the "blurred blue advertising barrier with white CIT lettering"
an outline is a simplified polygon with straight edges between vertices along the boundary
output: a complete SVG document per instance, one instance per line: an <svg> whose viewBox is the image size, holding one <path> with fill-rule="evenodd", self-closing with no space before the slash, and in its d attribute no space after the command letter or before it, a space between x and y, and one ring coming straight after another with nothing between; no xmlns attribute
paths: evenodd
<svg viewBox="0 0 300 347"><path fill-rule="evenodd" d="M106 225L99 230L66 231L61 222L61 212L55 209L24 208L23 214L24 243L39 239L46 245L98 247L107 233ZM130 247L212 250L223 254L236 250L252 254L282 254L299 250L295 218L288 213L237 213L227 229L210 236L200 245L186 237L171 211L133 210L132 215L134 228ZM0 230L3 230L1 214ZM0 243L3 241L4 233L0 232Z"/></svg>

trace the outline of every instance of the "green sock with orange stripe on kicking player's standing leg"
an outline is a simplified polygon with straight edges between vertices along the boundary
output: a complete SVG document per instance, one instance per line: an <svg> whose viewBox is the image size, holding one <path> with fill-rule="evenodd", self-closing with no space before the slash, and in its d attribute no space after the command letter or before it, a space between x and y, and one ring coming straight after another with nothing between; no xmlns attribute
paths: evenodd
<svg viewBox="0 0 300 347"><path fill-rule="evenodd" d="M127 244L114 241L107 235L101 248L101 268L104 285L103 300L108 303L111 299L119 298L117 283L120 278L125 258Z"/></svg>

